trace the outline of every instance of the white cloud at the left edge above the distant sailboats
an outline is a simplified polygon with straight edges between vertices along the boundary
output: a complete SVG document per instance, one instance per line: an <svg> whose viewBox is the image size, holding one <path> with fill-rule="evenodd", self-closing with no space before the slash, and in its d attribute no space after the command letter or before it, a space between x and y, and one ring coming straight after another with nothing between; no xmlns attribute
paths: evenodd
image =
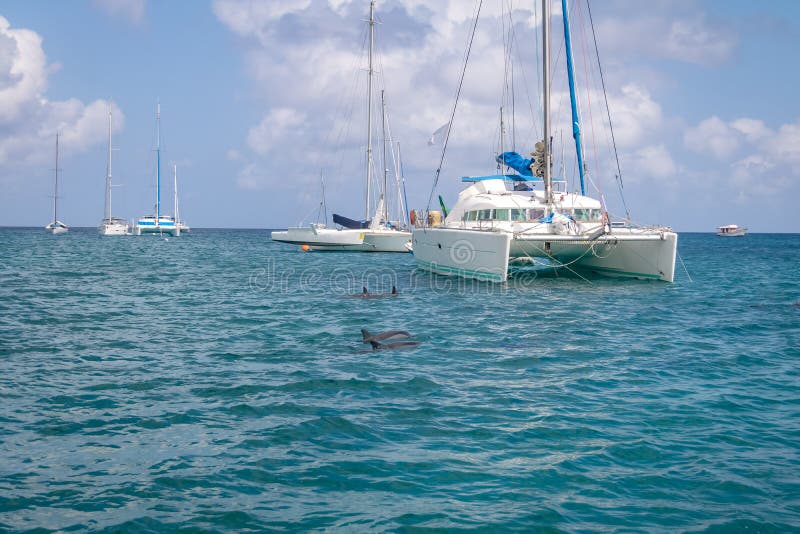
<svg viewBox="0 0 800 534"><path fill-rule="evenodd" d="M114 113L114 130L123 126L124 115L113 102L48 100L45 92L51 69L41 37L31 30L12 28L3 17L0 68L0 181L20 179L11 167L49 161L57 131L66 154L105 141L109 109Z"/></svg>

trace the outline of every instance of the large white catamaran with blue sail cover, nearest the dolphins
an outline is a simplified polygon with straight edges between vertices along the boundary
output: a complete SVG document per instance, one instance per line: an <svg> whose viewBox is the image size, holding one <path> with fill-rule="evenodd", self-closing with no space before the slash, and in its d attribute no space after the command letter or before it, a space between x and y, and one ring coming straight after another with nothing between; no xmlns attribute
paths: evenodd
<svg viewBox="0 0 800 534"><path fill-rule="evenodd" d="M611 224L601 202L585 195L566 0L565 51L581 193L568 192L563 180L553 179L549 4L542 0L543 140L536 143L532 159L516 152L498 156L499 163L517 173L463 178L469 185L444 223L430 226L423 221L413 229L417 265L438 274L493 282L506 281L515 264L672 282L678 235L666 227Z"/></svg>

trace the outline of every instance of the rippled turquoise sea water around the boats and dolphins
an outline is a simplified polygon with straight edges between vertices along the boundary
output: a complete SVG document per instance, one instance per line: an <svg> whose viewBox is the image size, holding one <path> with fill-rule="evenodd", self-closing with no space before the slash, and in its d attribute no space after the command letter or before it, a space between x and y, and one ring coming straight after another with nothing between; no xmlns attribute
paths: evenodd
<svg viewBox="0 0 800 534"><path fill-rule="evenodd" d="M0 531L798 530L800 236L679 252L501 286L0 229Z"/></svg>

